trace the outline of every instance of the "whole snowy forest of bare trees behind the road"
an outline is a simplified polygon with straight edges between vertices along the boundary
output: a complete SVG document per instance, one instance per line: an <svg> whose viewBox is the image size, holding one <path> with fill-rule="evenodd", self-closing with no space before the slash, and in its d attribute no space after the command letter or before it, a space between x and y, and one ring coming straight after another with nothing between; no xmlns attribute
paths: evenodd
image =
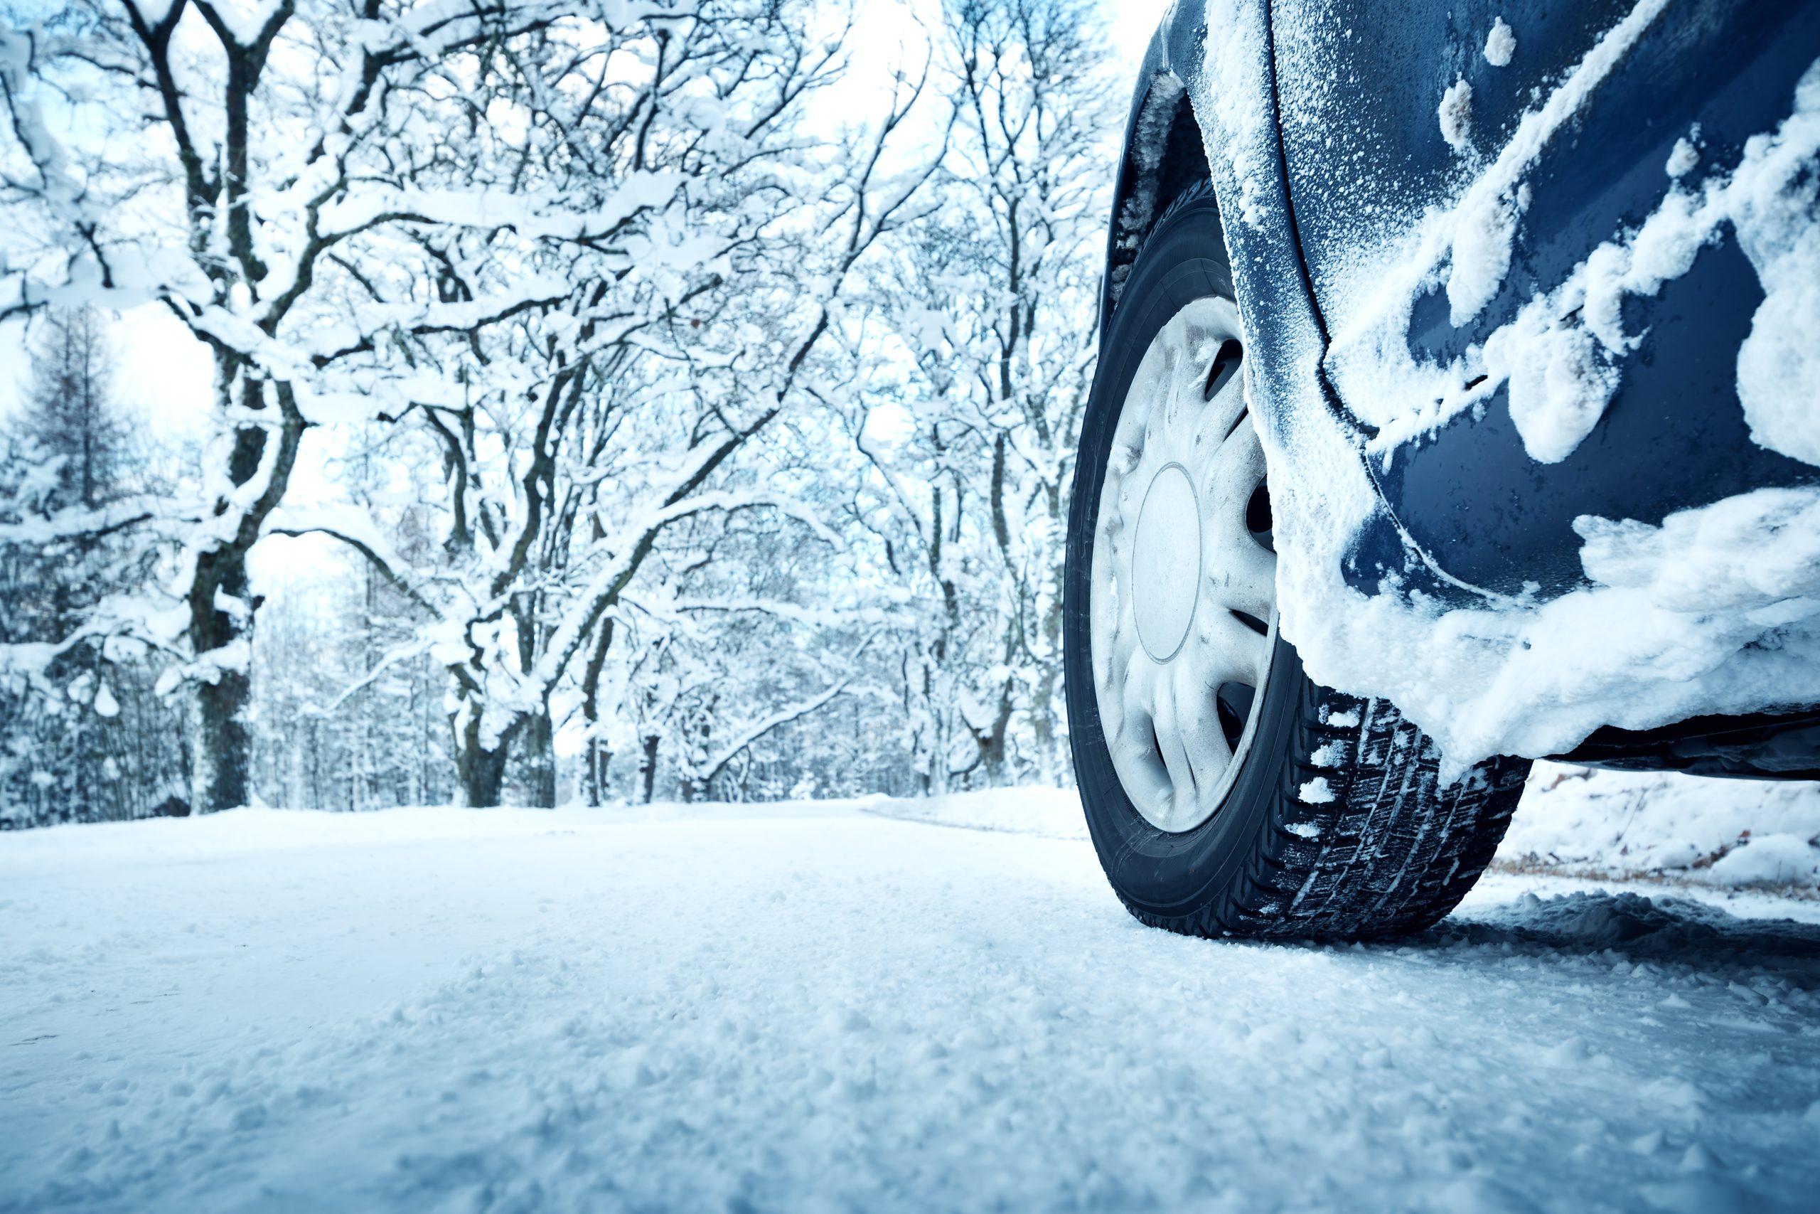
<svg viewBox="0 0 1820 1214"><path fill-rule="evenodd" d="M861 29L0 24L0 825L1067 783L1125 86L1076 0L954 0L888 71ZM146 306L207 348L195 442L127 408Z"/></svg>

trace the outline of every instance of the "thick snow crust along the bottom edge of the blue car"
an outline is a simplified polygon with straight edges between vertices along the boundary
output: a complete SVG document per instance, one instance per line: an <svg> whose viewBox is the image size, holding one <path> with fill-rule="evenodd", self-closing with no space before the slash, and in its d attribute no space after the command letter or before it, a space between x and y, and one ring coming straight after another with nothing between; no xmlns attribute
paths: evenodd
<svg viewBox="0 0 1820 1214"><path fill-rule="evenodd" d="M1820 688L1816 511L1820 490L1804 488L1662 526L1582 517L1591 586L1540 604L1441 610L1290 566L1307 581L1285 632L1316 679L1396 703L1452 772L1492 754L1560 754L1602 724L1805 704ZM1307 602L1325 610L1303 615Z"/></svg>

